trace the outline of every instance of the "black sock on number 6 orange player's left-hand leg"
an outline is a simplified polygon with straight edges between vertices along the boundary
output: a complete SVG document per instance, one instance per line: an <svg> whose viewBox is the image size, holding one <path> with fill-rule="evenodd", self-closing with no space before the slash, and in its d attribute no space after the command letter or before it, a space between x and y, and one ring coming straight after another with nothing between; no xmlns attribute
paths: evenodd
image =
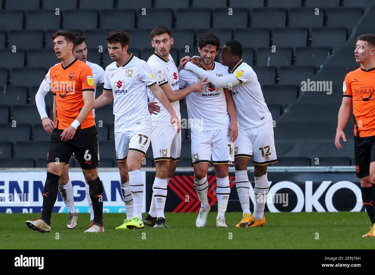
<svg viewBox="0 0 375 275"><path fill-rule="evenodd" d="M47 172L46 183L44 184L43 191L43 209L41 219L48 224L51 224L51 214L57 199L59 179L59 175Z"/></svg>

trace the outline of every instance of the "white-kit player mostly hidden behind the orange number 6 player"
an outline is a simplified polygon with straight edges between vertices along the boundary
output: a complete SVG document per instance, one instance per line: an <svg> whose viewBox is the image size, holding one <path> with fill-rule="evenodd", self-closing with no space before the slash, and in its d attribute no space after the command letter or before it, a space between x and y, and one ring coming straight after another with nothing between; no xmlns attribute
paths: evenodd
<svg viewBox="0 0 375 275"><path fill-rule="evenodd" d="M89 65L89 67L92 69L93 78L94 78L94 89L95 89L94 98L95 98L96 85L98 83L100 83L101 85L104 85L104 70L98 64L87 61L86 37L82 36L81 34L75 34L75 39L76 41L74 44L73 55L75 58L79 59L80 61L86 62L86 64ZM47 116L47 113L45 111L45 101L44 101L46 94L51 89L51 80L49 79L50 78L49 74L50 73L48 70L48 73L46 74L45 79L42 81L42 83L39 86L39 89L36 93L35 98L36 98L37 109L39 111L40 118L42 119L43 128L45 129L46 132L51 134L55 124ZM156 102L149 103L150 113L159 111L159 106L157 106L155 103ZM54 97L54 105L53 105L53 116L54 116L54 121L56 121L56 98L55 97ZM93 109L93 116L95 118L95 109ZM92 201L91 201L90 193L89 193L89 184L87 184L86 177L85 177L85 181L86 181L86 184L85 184L86 198L87 198L87 202L89 203L90 224L91 224L94 219L94 210L93 210L93 205L92 205ZM69 178L69 164L66 164L63 169L63 173L58 181L58 190L60 191L63 201L66 205L66 208L68 208L68 211L69 211L69 217L68 217L68 222L66 224L66 227L68 229L75 229L78 226L78 216L74 207L73 186Z"/></svg>

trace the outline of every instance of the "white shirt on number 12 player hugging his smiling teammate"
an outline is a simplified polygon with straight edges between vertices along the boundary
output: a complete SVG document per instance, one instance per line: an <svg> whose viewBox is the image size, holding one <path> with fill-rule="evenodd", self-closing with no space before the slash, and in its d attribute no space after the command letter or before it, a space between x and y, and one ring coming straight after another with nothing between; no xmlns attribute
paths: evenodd
<svg viewBox="0 0 375 275"><path fill-rule="evenodd" d="M251 129L265 123L271 117L271 113L264 101L263 92L253 68L241 59L229 73L234 74L240 80L240 84L233 86L232 90L239 128Z"/></svg>

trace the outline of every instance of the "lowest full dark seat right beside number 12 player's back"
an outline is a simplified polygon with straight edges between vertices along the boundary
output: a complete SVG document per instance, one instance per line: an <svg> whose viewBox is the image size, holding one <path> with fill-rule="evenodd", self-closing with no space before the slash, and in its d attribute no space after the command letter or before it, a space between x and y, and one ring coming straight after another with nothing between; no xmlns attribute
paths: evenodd
<svg viewBox="0 0 375 275"><path fill-rule="evenodd" d="M264 85L263 97L267 104L286 106L297 100L298 87L294 85Z"/></svg>

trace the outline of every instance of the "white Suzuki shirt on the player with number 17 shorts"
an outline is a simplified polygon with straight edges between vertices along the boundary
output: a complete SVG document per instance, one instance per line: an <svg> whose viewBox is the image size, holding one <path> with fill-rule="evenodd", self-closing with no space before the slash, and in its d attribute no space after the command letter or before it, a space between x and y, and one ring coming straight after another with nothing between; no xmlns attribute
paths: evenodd
<svg viewBox="0 0 375 275"><path fill-rule="evenodd" d="M157 84L150 66L133 54L122 67L112 62L105 68L104 90L113 93L114 132L152 127L147 87L154 85Z"/></svg>

